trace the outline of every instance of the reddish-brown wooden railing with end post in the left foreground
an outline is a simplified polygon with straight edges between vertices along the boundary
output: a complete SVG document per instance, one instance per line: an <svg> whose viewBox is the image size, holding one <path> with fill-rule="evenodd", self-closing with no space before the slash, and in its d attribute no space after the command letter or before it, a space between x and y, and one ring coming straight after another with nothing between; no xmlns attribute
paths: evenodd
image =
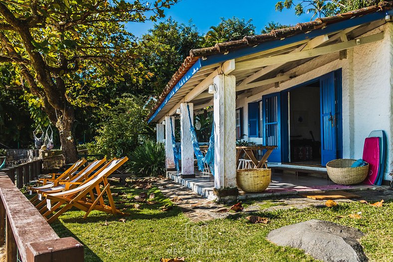
<svg viewBox="0 0 393 262"><path fill-rule="evenodd" d="M0 245L6 262L83 262L83 245L59 238L38 210L0 173Z"/></svg>

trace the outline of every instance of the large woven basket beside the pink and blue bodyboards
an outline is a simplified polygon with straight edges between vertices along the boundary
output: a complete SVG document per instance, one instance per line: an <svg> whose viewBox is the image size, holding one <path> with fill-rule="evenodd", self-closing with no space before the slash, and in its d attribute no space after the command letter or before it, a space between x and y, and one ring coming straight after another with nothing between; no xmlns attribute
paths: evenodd
<svg viewBox="0 0 393 262"><path fill-rule="evenodd" d="M369 174L369 164L361 167L351 167L356 160L336 159L326 164L329 178L336 184L354 185L363 182Z"/></svg>

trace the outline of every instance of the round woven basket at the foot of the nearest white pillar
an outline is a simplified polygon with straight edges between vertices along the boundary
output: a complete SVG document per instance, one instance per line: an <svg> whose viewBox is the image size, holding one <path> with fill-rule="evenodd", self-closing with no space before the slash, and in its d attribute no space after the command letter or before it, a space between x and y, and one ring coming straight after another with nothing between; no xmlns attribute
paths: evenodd
<svg viewBox="0 0 393 262"><path fill-rule="evenodd" d="M237 186L248 193L264 191L270 184L271 169L238 169L236 173Z"/></svg>

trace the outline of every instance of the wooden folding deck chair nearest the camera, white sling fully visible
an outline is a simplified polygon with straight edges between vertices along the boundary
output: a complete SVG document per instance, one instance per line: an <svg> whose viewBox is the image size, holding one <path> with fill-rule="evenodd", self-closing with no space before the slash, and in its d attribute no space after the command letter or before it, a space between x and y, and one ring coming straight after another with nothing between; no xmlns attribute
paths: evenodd
<svg viewBox="0 0 393 262"><path fill-rule="evenodd" d="M72 207L85 211L86 214L83 217L84 219L87 218L92 210L128 215L127 213L116 209L115 202L113 201L112 193L109 188L110 184L107 179L110 174L123 165L127 160L127 157L112 159L77 188L54 194L43 193L42 196L46 198L46 209L48 211L43 213L42 216L50 224ZM102 190L100 189L101 183L104 185ZM97 194L97 197L95 197L94 193ZM109 205L106 205L104 202L105 194L108 197ZM62 205L64 206L61 207ZM56 212L56 210L60 207L61 209Z"/></svg>

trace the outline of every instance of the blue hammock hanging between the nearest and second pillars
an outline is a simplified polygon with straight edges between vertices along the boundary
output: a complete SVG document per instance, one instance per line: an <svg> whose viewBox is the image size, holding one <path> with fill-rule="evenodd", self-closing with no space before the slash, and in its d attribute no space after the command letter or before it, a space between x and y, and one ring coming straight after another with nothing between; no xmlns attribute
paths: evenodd
<svg viewBox="0 0 393 262"><path fill-rule="evenodd" d="M195 156L197 157L198 169L199 171L203 171L204 163L206 163L210 167L211 174L214 176L214 121L213 121L213 128L211 129L210 139L209 139L209 147L207 149L206 155L203 156L202 152L199 149L197 133L195 131L195 127L193 126L193 122L191 120L190 106L188 104L187 104L187 110L189 111L191 140L193 141Z"/></svg>

